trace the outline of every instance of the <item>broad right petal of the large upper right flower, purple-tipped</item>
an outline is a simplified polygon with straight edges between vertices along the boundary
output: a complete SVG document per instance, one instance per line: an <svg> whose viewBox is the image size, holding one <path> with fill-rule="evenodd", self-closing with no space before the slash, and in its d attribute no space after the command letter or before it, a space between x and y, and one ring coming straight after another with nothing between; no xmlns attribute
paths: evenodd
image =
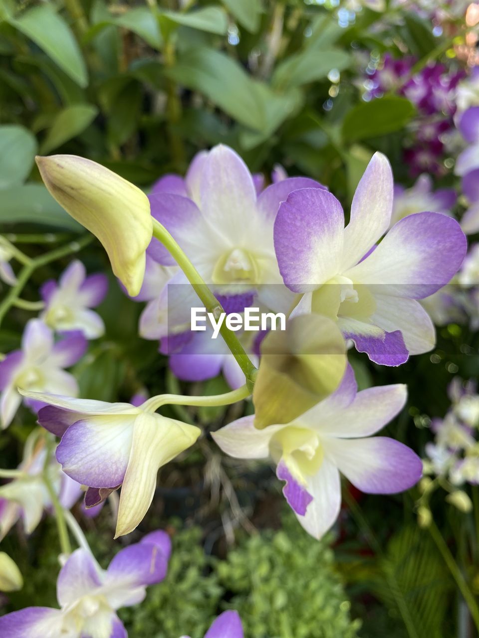
<svg viewBox="0 0 479 638"><path fill-rule="evenodd" d="M387 285L387 293L398 297L423 299L452 279L467 246L455 219L419 212L398 221L376 250L344 276L356 283Z"/></svg>

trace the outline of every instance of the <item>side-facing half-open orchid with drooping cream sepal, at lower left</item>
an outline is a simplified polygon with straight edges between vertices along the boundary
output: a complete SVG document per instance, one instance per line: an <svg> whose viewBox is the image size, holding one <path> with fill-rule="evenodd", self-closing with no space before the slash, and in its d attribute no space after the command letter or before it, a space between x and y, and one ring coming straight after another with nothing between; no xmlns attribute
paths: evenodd
<svg viewBox="0 0 479 638"><path fill-rule="evenodd" d="M88 486L87 507L121 487L116 537L134 530L153 500L158 469L197 440L201 430L141 406L26 392L47 404L38 422L61 436L57 461L73 480Z"/></svg>

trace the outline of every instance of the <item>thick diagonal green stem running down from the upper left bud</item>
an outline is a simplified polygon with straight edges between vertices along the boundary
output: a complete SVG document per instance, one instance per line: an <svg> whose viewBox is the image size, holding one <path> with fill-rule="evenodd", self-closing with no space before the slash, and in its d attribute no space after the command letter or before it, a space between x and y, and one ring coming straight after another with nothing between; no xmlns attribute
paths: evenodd
<svg viewBox="0 0 479 638"><path fill-rule="evenodd" d="M183 250L178 246L177 242L169 234L164 226L162 226L156 219L153 219L153 236L156 237L163 246L169 250L174 257L176 263L178 263L181 270L185 273L186 278L193 286L195 293L204 304L206 311L212 313L216 318L223 312L223 308L218 299L209 290L206 283L201 278L201 275L195 269L194 265L190 262ZM256 368L250 361L243 346L239 342L238 337L232 330L229 330L223 322L220 327L220 334L228 346L231 354L238 362L239 367L245 374L248 388L252 390L254 385L254 379L256 374Z"/></svg>

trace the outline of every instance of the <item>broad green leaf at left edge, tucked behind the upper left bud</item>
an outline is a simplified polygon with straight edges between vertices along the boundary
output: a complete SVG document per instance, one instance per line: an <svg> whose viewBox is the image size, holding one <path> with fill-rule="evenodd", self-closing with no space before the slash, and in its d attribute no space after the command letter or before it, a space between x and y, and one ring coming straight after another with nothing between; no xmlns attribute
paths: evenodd
<svg viewBox="0 0 479 638"><path fill-rule="evenodd" d="M11 186L1 191L0 223L45 224L80 232L80 226L57 204L43 184Z"/></svg>

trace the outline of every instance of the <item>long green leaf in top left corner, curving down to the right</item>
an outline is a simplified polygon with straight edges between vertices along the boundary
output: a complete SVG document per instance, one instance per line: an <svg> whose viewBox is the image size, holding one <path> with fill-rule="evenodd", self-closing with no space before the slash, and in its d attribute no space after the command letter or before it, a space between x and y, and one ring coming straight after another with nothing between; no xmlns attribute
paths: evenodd
<svg viewBox="0 0 479 638"><path fill-rule="evenodd" d="M50 4L34 6L19 18L10 18L11 26L54 60L81 87L88 84L87 70L80 48L65 20Z"/></svg>

